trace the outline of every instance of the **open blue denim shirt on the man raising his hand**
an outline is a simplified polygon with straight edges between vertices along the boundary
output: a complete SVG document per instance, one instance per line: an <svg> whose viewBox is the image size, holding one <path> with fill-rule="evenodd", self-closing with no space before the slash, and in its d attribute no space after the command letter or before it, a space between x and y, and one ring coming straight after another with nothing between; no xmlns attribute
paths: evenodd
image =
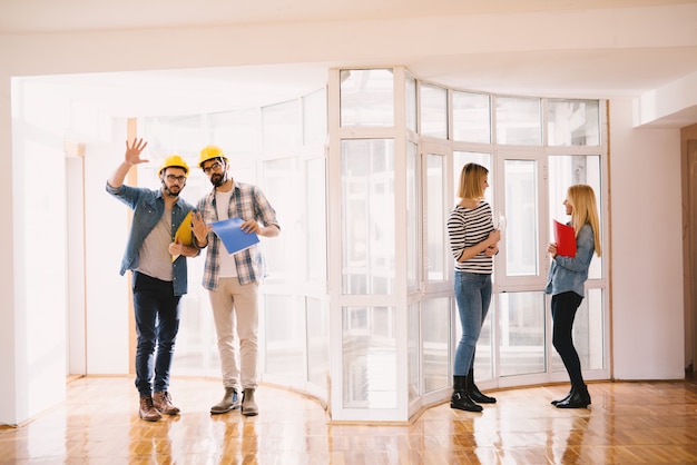
<svg viewBox="0 0 697 465"><path fill-rule="evenodd" d="M161 190L146 189L141 187L130 187L122 185L114 188L107 182L107 192L121 200L134 210L134 220L130 225L130 234L126 244L126 251L121 261L120 274L124 275L127 269L136 269L138 267L138 254L145 238L150 234L155 225L160 220L165 212L165 199ZM171 237L186 215L194 207L186 202L183 198L178 198L171 209ZM187 270L186 257L180 255L171 264L173 266L173 286L175 296L183 296L187 291Z"/></svg>

